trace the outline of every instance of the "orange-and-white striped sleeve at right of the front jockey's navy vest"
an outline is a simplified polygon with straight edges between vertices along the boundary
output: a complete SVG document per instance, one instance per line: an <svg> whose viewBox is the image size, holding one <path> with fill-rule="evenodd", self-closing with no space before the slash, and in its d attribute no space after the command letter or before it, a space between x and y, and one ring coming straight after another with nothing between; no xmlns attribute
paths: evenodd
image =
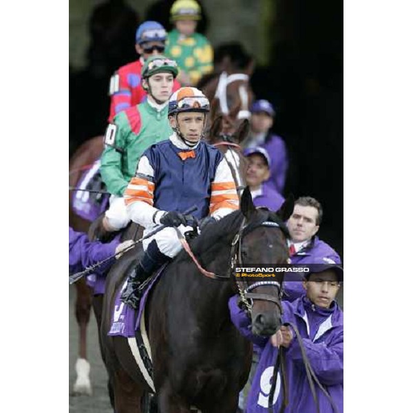
<svg viewBox="0 0 413 413"><path fill-rule="evenodd" d="M240 208L240 198L237 195L237 187L234 178L225 159L222 159L215 172L215 178L211 184L211 201L209 213L213 218L220 220L225 215Z"/></svg>

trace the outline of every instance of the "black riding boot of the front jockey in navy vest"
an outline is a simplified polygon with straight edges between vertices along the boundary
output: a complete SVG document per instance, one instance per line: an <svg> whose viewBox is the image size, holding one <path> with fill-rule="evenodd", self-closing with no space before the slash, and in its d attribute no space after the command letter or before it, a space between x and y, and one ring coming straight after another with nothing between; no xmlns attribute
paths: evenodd
<svg viewBox="0 0 413 413"><path fill-rule="evenodd" d="M158 268L169 261L170 258L159 251L156 241L153 240L145 252L145 255L136 266L135 271L129 275L127 286L120 296L120 301L124 302L135 310L139 306L143 288L139 288Z"/></svg>

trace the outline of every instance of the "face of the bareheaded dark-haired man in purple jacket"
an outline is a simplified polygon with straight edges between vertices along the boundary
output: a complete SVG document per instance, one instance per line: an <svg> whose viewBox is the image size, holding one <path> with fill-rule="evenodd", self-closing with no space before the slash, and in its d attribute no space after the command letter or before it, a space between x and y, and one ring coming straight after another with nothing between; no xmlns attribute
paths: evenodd
<svg viewBox="0 0 413 413"><path fill-rule="evenodd" d="M319 226L316 224L317 218L317 208L295 205L293 215L291 215L287 221L291 240L293 240L293 242L310 240L319 230Z"/></svg>

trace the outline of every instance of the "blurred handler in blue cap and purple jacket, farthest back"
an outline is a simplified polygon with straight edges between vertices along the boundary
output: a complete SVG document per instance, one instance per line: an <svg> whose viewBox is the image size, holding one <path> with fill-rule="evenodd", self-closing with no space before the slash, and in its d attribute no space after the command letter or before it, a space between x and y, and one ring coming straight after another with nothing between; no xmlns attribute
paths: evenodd
<svg viewBox="0 0 413 413"><path fill-rule="evenodd" d="M284 140L270 133L274 123L275 110L268 100L256 100L251 107L251 134L242 145L245 149L263 147L271 159L268 186L283 193L288 169L288 153Z"/></svg>

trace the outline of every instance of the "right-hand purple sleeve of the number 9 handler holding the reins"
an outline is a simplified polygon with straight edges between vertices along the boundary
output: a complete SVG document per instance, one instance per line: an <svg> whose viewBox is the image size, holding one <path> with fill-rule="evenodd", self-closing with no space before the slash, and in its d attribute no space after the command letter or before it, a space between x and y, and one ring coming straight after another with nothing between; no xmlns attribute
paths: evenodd
<svg viewBox="0 0 413 413"><path fill-rule="evenodd" d="M303 339L303 343L308 361L320 383L343 383L343 330L329 346L326 343L313 343L310 339ZM295 363L304 366L297 337L291 342L287 354Z"/></svg>

